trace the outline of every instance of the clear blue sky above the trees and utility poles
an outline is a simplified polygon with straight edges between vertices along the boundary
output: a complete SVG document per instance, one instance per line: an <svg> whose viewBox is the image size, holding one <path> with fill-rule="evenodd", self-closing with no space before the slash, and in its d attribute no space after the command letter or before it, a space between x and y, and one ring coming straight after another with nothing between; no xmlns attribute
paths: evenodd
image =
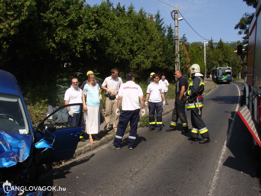
<svg viewBox="0 0 261 196"><path fill-rule="evenodd" d="M166 5L162 2L169 5ZM242 0L111 0L114 7L120 2L121 6L125 5L126 9L131 4L135 10L139 11L141 7L147 13L156 14L160 11L164 23L171 24L174 28L174 21L171 18L171 11L177 6L183 18L192 26L192 28L202 37L219 41L220 38L225 41L242 40L243 35L238 35L238 30L234 30L239 19L246 12L254 12L254 8L247 7ZM86 0L91 6L100 4L102 0ZM181 15L179 14L179 18ZM188 42L203 42L197 33L195 33L185 20L179 21L179 37L183 34Z"/></svg>

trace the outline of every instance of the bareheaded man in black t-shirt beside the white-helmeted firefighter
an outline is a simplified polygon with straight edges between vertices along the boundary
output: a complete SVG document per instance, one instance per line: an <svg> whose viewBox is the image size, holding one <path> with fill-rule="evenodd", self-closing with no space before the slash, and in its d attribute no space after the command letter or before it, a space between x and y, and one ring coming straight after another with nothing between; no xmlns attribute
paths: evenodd
<svg viewBox="0 0 261 196"><path fill-rule="evenodd" d="M166 131L175 131L177 126L177 121L180 118L182 123L182 134L188 132L188 121L187 116L185 113L185 104L186 101L184 100L184 93L188 89L188 81L187 79L182 76L180 70L175 71L175 77L177 78L176 88L175 88L175 103L174 103L174 110L172 112L172 120L170 122L169 129Z"/></svg>

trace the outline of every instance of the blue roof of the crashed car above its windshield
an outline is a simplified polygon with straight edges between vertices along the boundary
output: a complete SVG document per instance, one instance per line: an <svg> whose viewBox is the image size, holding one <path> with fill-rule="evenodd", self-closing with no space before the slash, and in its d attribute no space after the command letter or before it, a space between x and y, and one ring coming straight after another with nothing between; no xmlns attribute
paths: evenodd
<svg viewBox="0 0 261 196"><path fill-rule="evenodd" d="M0 70L0 93L20 95L16 85L17 81L13 74Z"/></svg>

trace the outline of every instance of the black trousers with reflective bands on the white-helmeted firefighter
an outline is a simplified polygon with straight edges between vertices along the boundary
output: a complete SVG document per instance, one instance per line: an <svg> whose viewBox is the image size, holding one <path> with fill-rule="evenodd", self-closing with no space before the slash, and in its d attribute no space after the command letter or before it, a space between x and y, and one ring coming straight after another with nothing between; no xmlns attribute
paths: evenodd
<svg viewBox="0 0 261 196"><path fill-rule="evenodd" d="M209 132L207 131L206 125L203 119L201 118L201 116L202 116L202 111L199 115L195 109L191 110L191 124L192 124L191 137L198 137L199 133L203 139L209 137Z"/></svg>

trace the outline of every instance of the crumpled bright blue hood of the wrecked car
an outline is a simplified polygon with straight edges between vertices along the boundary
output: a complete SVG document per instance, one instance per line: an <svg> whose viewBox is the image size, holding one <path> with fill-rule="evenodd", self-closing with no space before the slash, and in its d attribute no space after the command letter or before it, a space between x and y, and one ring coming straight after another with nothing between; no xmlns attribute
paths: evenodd
<svg viewBox="0 0 261 196"><path fill-rule="evenodd" d="M30 154L33 137L0 130L0 167L23 162Z"/></svg>

